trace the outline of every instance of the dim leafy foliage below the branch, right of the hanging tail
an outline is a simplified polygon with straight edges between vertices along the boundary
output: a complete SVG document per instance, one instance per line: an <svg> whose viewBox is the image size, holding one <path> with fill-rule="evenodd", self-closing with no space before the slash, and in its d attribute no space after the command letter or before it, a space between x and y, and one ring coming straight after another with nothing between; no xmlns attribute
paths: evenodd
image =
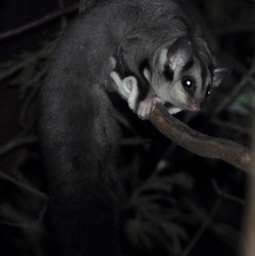
<svg viewBox="0 0 255 256"><path fill-rule="evenodd" d="M184 172L152 176L145 181L126 207L128 240L147 253L163 250L167 255L178 255L182 252L182 242L189 236L185 226L178 223L179 200L192 188L193 178ZM157 245L161 248L156 249Z"/></svg>

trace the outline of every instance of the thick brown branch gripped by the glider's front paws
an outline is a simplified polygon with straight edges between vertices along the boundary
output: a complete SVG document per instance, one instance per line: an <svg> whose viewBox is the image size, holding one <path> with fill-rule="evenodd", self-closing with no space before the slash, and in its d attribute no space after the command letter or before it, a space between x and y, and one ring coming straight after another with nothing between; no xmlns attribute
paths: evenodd
<svg viewBox="0 0 255 256"><path fill-rule="evenodd" d="M231 140L210 137L196 132L168 114L168 110L162 104L157 104L155 109L150 111L148 119L168 139L173 140L194 154L221 159L249 172L251 151L247 147Z"/></svg>

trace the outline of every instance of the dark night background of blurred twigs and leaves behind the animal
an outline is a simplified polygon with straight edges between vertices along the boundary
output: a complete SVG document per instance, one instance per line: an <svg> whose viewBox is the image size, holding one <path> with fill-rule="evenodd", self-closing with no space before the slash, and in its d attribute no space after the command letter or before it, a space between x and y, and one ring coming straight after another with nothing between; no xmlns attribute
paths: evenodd
<svg viewBox="0 0 255 256"><path fill-rule="evenodd" d="M232 72L200 114L176 116L199 132L250 147L254 1L182 2L199 20L215 56ZM60 10L61 4L65 8L62 18L22 31L27 24L39 23ZM43 221L47 196L38 137L38 90L44 75L40 71L47 63L42 49L57 37L63 22L77 15L78 8L66 9L77 4L0 0L0 255L54 254ZM243 222L244 172L171 143L148 121L131 113L114 93L111 97L124 134L122 181L131 197L124 212L124 248L130 255L235 255ZM226 99L230 103L219 108ZM137 213L142 207L145 218L134 229L136 216L131 209ZM156 228L150 229L151 225ZM134 240L137 229L139 243Z"/></svg>

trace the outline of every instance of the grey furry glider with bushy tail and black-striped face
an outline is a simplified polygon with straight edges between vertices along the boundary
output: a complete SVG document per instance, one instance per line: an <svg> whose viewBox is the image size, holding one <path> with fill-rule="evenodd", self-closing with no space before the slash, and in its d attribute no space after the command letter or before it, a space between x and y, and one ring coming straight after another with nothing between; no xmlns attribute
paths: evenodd
<svg viewBox="0 0 255 256"><path fill-rule="evenodd" d="M188 38L192 52L183 43L168 51L180 37ZM170 81L163 69L178 50L182 57L191 55L194 64L183 74L186 61L173 57ZM201 79L201 60L206 79ZM176 0L98 1L64 31L50 62L41 89L40 127L54 236L61 255L121 255L123 193L115 162L120 135L106 88L114 84L142 118L156 102L170 102L172 113L198 110L207 84L219 84L221 70L212 77L207 43ZM180 85L181 73L196 78L195 91Z"/></svg>

